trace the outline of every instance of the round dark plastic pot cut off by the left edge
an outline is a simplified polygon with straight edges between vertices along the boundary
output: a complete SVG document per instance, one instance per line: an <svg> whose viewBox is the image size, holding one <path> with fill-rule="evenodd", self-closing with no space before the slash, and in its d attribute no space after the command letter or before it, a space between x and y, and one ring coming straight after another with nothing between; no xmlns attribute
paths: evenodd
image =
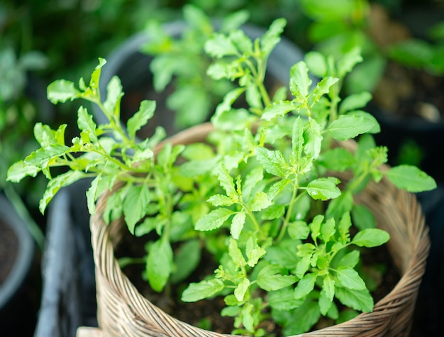
<svg viewBox="0 0 444 337"><path fill-rule="evenodd" d="M29 336L35 309L26 287L33 266L35 244L26 223L0 193L0 334ZM32 311L32 312L30 312Z"/></svg>

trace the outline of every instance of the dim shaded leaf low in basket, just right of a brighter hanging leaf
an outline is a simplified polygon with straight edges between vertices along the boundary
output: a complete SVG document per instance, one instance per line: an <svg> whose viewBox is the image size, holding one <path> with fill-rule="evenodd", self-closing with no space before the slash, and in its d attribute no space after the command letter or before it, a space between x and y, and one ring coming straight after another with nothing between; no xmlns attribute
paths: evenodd
<svg viewBox="0 0 444 337"><path fill-rule="evenodd" d="M174 252L174 265L176 270L172 272L170 280L177 284L185 280L201 261L201 243L199 240L189 240L180 245L179 250Z"/></svg>

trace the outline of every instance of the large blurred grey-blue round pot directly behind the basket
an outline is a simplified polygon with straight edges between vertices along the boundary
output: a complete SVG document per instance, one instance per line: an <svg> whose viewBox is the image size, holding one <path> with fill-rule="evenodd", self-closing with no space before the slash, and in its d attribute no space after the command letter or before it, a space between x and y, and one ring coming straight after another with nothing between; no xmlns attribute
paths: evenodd
<svg viewBox="0 0 444 337"><path fill-rule="evenodd" d="M215 23L215 26L217 26L217 23ZM163 27L169 35L179 37L187 28L187 23L175 21L167 23ZM266 31L264 28L252 25L245 25L242 29L252 39L262 36ZM145 126L137 133L138 137L143 139L152 134L154 131L153 123L155 126L164 127L167 135L172 136L178 130L174 123L174 111L167 109L166 106L166 98L170 93L167 92L168 88L161 93L155 92L152 86L152 72L150 71L152 57L140 52L147 42L148 34L145 32L138 33L114 50L109 57L106 57L107 63L101 70L101 97L103 100L106 99L106 85L111 77L118 75L125 93L121 102L121 118L123 121L126 122L138 111L140 101L152 99L157 102L157 112L151 120L150 126ZM302 60L303 57L304 53L294 43L281 37L280 43L274 48L268 59L266 81L287 85L290 68L294 63ZM106 122L106 117L97 106L93 106L93 113L96 121Z"/></svg>

